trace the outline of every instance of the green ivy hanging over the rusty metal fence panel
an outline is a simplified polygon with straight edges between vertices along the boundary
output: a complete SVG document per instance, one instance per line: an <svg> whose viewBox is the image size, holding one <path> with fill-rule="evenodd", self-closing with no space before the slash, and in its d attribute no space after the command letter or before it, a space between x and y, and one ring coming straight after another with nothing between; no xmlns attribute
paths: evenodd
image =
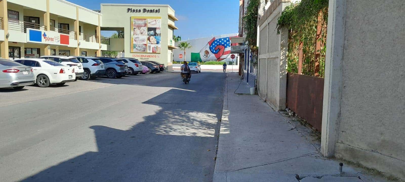
<svg viewBox="0 0 405 182"><path fill-rule="evenodd" d="M286 7L277 22L277 33L281 28L288 28L287 71L298 73L298 48L303 42L302 73L315 74L315 45L318 16L322 16L322 33L320 35L320 71L325 74L326 25L328 20L328 0L302 0Z"/></svg>

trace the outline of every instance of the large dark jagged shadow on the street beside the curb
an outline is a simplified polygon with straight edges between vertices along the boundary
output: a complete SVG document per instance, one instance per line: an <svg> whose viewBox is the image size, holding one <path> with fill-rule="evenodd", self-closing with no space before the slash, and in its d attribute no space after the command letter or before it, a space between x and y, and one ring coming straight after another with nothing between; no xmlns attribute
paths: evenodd
<svg viewBox="0 0 405 182"><path fill-rule="evenodd" d="M209 96L195 104L200 95ZM97 152L62 161L23 181L212 181L222 95L222 89L170 89L143 102L159 109L130 129L91 126Z"/></svg>

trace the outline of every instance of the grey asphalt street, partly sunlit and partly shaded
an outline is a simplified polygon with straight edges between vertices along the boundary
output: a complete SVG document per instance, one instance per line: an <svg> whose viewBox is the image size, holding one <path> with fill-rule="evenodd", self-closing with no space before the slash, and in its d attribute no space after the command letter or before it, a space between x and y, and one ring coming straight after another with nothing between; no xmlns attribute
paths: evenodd
<svg viewBox="0 0 405 182"><path fill-rule="evenodd" d="M226 74L0 89L0 181L212 181Z"/></svg>

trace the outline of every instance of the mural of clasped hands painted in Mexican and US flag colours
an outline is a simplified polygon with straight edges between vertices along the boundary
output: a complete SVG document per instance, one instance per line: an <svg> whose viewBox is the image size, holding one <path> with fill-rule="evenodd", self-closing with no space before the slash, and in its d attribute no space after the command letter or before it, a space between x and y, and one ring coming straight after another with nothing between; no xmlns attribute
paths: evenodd
<svg viewBox="0 0 405 182"><path fill-rule="evenodd" d="M200 51L202 61L221 61L230 54L230 38L212 38Z"/></svg>

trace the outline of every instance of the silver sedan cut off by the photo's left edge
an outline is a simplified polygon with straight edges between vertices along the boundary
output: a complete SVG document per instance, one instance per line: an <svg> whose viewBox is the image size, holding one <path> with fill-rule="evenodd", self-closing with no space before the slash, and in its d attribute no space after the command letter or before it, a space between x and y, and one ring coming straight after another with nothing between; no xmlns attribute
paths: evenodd
<svg viewBox="0 0 405 182"><path fill-rule="evenodd" d="M16 90L35 83L32 67L7 59L0 59L0 88Z"/></svg>

